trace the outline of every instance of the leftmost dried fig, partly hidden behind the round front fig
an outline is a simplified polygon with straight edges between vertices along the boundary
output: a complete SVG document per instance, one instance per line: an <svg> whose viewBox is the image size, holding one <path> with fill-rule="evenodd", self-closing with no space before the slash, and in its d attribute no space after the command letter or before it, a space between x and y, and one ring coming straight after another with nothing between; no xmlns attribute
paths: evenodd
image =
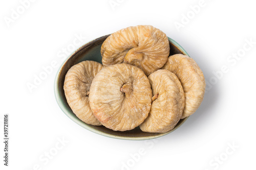
<svg viewBox="0 0 256 170"><path fill-rule="evenodd" d="M89 104L91 83L102 65L95 61L82 61L72 66L65 77L64 91L67 102L75 115L90 125L101 123L94 117Z"/></svg>

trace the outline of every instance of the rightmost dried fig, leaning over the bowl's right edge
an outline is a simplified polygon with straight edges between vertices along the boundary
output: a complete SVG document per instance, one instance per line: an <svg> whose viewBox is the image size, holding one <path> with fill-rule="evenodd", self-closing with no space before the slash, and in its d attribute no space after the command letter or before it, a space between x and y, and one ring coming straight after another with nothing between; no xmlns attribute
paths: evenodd
<svg viewBox="0 0 256 170"><path fill-rule="evenodd" d="M185 93L185 108L181 118L198 109L204 98L205 80L202 70L190 57L176 54L169 56L163 69L173 72L180 80Z"/></svg>

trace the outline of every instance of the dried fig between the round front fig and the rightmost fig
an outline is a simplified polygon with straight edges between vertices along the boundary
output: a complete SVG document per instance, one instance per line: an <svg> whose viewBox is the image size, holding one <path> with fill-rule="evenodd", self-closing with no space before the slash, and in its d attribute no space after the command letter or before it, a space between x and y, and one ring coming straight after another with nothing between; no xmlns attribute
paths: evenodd
<svg viewBox="0 0 256 170"><path fill-rule="evenodd" d="M143 132L165 133L179 122L185 104L184 92L177 76L160 69L148 76L153 98L150 113L140 125Z"/></svg>

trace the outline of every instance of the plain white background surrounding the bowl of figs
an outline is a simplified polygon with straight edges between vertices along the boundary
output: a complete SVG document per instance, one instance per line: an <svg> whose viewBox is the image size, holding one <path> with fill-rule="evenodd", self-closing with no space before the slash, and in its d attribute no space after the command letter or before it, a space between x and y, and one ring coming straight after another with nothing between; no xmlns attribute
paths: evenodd
<svg viewBox="0 0 256 170"><path fill-rule="evenodd" d="M1 1L2 139L4 114L10 117L9 166L3 165L1 139L1 169L255 169L254 2L205 0L194 16L190 6L199 0L113 2L118 5L112 8L109 0L38 0L22 11L18 0ZM17 8L23 13L7 22ZM177 29L175 23L182 24L187 14L188 23ZM59 67L63 60L58 53L76 35L86 37L78 48L136 25L152 25L176 40L199 64L206 81L211 81L200 108L176 131L145 142L113 139L83 129L55 101L57 67L30 92L27 84L52 61ZM238 60L229 58L238 51L242 54L246 39L254 42L250 50ZM228 71L220 74L224 65ZM218 79L214 72L219 72ZM58 143L62 138L68 141L63 147ZM61 149L54 153L56 144ZM236 147L232 150L230 145ZM138 156L139 150L144 150L143 155ZM49 151L56 155L47 161Z"/></svg>

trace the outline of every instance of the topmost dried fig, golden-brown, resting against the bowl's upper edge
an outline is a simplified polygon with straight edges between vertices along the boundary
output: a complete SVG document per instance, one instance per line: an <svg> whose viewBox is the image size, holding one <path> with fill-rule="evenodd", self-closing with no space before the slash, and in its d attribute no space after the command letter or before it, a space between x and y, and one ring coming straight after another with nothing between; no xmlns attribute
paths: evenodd
<svg viewBox="0 0 256 170"><path fill-rule="evenodd" d="M152 26L128 27L111 34L101 46L104 66L129 63L145 75L160 69L169 56L167 36Z"/></svg>

